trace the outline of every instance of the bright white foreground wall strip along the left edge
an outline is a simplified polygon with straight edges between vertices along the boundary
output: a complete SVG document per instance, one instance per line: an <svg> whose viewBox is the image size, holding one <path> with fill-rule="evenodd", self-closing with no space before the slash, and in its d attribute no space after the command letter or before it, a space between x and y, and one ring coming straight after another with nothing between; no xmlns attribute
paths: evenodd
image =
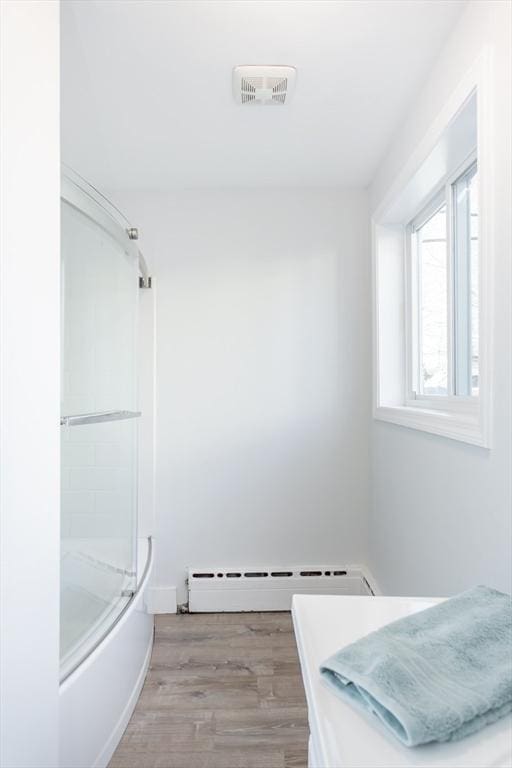
<svg viewBox="0 0 512 768"><path fill-rule="evenodd" d="M0 764L55 768L59 7L0 3Z"/></svg>

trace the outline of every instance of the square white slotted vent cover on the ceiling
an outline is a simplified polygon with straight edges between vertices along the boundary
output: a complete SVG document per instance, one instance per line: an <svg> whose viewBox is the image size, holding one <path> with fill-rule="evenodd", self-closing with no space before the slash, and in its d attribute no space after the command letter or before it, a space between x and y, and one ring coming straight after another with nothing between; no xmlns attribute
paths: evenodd
<svg viewBox="0 0 512 768"><path fill-rule="evenodd" d="M238 104L287 104L293 92L295 67L249 65L233 70L233 94Z"/></svg>

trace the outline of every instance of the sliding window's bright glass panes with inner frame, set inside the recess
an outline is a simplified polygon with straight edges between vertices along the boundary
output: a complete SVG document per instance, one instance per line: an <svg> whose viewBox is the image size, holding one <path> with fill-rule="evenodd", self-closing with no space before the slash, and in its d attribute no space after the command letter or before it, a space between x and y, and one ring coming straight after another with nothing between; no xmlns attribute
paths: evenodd
<svg viewBox="0 0 512 768"><path fill-rule="evenodd" d="M407 400L479 393L478 171L467 162L407 227Z"/></svg>

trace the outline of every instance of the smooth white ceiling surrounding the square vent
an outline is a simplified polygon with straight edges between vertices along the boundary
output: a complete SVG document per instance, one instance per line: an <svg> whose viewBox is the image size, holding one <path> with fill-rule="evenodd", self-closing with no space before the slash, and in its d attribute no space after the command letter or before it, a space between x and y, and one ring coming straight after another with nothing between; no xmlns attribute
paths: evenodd
<svg viewBox="0 0 512 768"><path fill-rule="evenodd" d="M65 0L63 159L109 189L367 185L464 0ZM237 64L297 67L235 104Z"/></svg>

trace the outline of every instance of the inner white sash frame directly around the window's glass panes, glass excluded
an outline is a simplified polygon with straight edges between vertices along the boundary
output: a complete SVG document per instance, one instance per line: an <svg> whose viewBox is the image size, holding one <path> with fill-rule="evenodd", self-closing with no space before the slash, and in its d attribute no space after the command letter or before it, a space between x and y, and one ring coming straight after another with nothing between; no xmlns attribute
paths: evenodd
<svg viewBox="0 0 512 768"><path fill-rule="evenodd" d="M460 323L455 322L455 312L457 303L455 297L455 260L458 255L459 244L455 239L454 233L454 187L456 182L469 175L473 169L477 169L477 151L476 149L464 160L457 169L451 173L440 188L432 195L429 202L419 213L409 222L406 227L405 244L405 405L411 408L427 408L429 410L448 410L461 414L472 413L477 415L478 395L459 395L455 393L456 369L459 357L454 350L456 345L456 333L460 328ZM416 275L416 257L413 252L414 232L420 229L443 205L446 205L447 221L447 355L448 355L448 394L422 394L419 392L419 335L418 328L419 311L417 302L418 277Z"/></svg>

